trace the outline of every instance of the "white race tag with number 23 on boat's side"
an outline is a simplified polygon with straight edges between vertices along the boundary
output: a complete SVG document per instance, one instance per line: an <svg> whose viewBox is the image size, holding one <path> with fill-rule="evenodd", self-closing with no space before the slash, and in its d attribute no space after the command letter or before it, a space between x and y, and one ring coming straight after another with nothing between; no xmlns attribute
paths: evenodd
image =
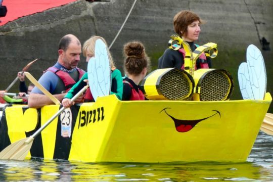
<svg viewBox="0 0 273 182"><path fill-rule="evenodd" d="M71 136L72 112L70 108L66 108L60 115L61 135L66 138Z"/></svg>

